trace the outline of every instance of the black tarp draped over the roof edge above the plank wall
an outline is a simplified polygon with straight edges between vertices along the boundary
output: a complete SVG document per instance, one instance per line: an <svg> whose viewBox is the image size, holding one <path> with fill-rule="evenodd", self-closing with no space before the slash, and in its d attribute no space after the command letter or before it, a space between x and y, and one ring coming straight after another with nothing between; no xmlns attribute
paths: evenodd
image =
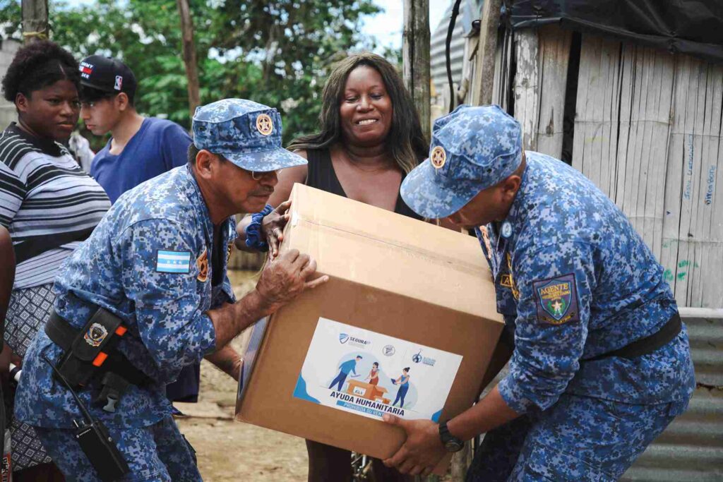
<svg viewBox="0 0 723 482"><path fill-rule="evenodd" d="M505 0L513 29L560 23L723 62L723 0Z"/></svg>

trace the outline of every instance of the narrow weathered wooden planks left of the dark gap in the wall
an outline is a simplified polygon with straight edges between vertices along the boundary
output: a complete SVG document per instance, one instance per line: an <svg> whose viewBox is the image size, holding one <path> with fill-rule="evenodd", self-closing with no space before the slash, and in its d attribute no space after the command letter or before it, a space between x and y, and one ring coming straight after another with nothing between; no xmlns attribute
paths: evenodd
<svg viewBox="0 0 723 482"><path fill-rule="evenodd" d="M515 119L525 149L560 158L572 33L557 25L515 33Z"/></svg>

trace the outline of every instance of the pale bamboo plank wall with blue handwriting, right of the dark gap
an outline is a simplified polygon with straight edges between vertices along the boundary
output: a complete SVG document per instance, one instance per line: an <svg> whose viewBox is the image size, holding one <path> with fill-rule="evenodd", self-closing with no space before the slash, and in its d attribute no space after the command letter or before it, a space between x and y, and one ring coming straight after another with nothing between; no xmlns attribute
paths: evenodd
<svg viewBox="0 0 723 482"><path fill-rule="evenodd" d="M583 35L573 167L628 215L681 306L723 307L722 110L723 66Z"/></svg>

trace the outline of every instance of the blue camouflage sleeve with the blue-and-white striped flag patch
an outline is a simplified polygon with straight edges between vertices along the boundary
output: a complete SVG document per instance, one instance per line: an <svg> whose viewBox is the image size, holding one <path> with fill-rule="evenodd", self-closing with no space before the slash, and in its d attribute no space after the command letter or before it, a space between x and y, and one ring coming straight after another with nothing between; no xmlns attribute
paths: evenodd
<svg viewBox="0 0 723 482"><path fill-rule="evenodd" d="M155 363L173 371L215 348L215 330L200 310L191 236L167 220L136 223L124 233L124 288L138 330Z"/></svg>

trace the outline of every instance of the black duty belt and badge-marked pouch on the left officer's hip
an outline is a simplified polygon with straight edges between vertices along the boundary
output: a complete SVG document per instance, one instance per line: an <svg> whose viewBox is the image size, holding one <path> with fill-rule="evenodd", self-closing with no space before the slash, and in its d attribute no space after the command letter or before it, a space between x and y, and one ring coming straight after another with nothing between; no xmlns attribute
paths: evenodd
<svg viewBox="0 0 723 482"><path fill-rule="evenodd" d="M119 317L106 309L98 308L80 330L51 310L45 332L63 349L56 368L72 387L85 387L93 379L100 380L102 389L94 403L103 405L106 412L116 411L116 403L129 384L142 386L152 381L116 350L127 329Z"/></svg>

